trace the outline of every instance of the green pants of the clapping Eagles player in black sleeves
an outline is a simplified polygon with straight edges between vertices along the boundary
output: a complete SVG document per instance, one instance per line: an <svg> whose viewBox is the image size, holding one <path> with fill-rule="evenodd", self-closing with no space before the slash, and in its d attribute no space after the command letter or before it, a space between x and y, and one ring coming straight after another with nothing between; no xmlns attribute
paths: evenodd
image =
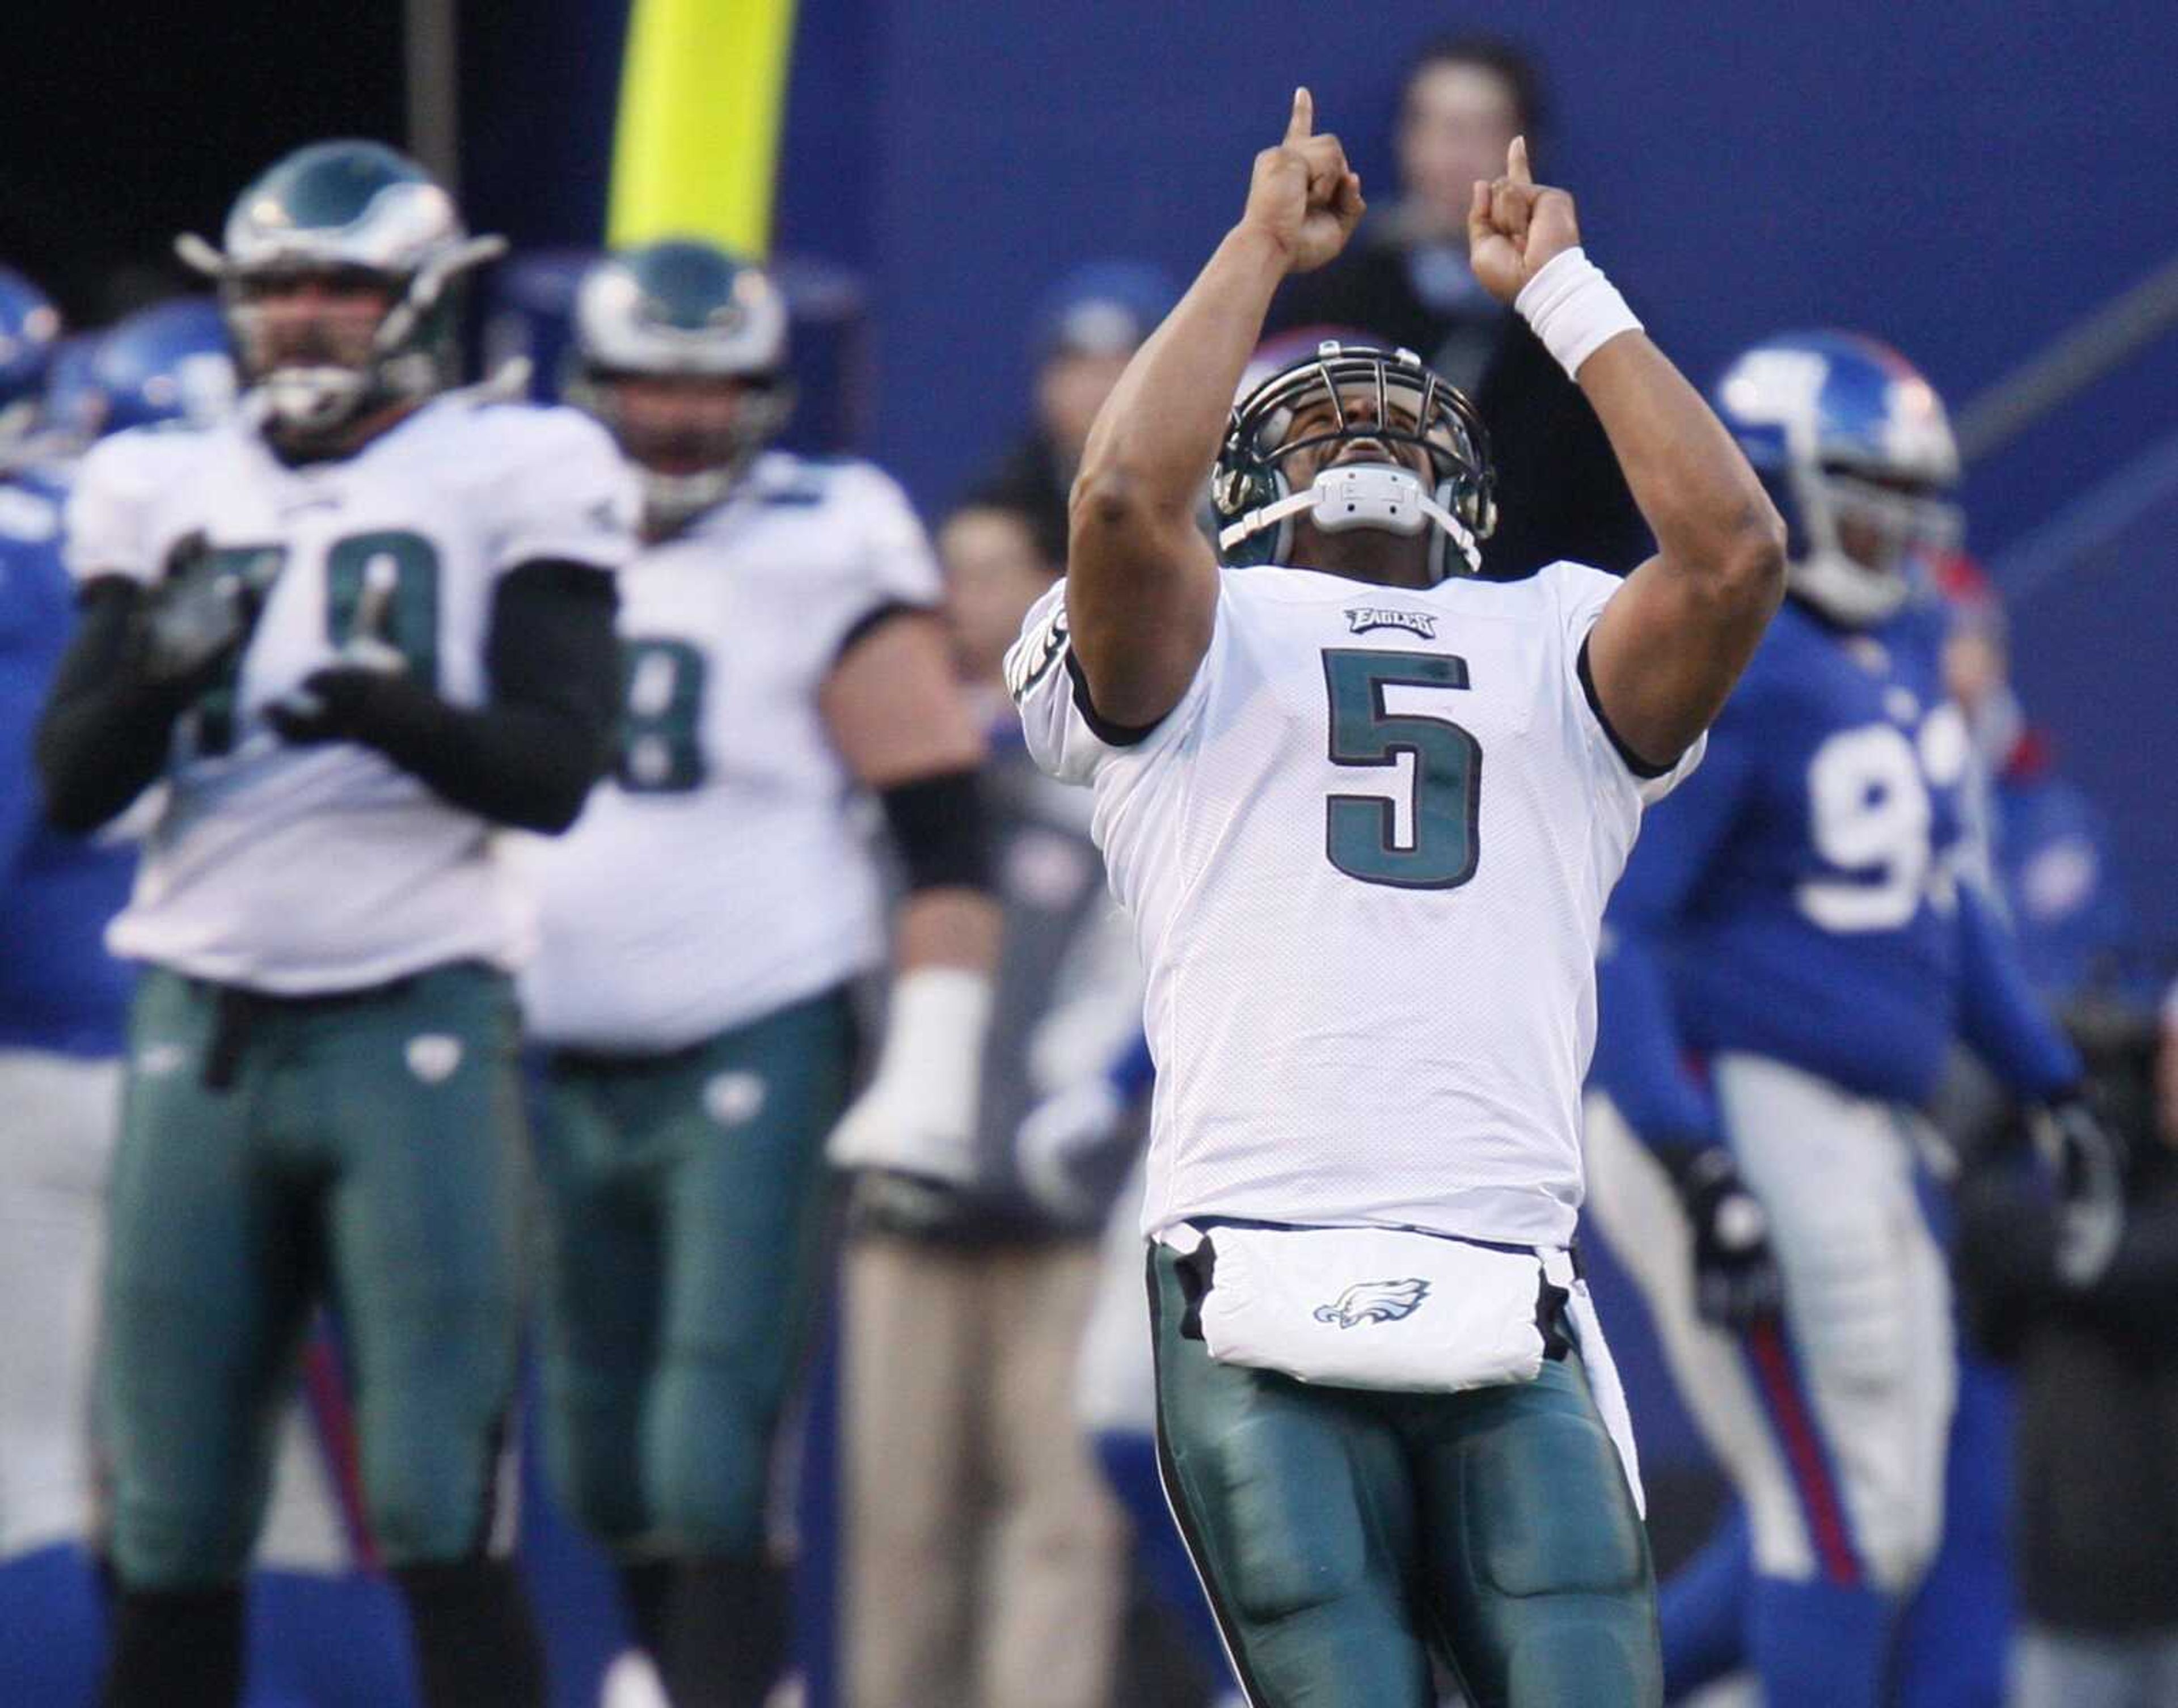
<svg viewBox="0 0 2178 1708"><path fill-rule="evenodd" d="M486 1542L521 1331L514 1048L481 965L298 1000L146 972L100 1342L124 1586L240 1575L320 1298L379 1553Z"/></svg>

